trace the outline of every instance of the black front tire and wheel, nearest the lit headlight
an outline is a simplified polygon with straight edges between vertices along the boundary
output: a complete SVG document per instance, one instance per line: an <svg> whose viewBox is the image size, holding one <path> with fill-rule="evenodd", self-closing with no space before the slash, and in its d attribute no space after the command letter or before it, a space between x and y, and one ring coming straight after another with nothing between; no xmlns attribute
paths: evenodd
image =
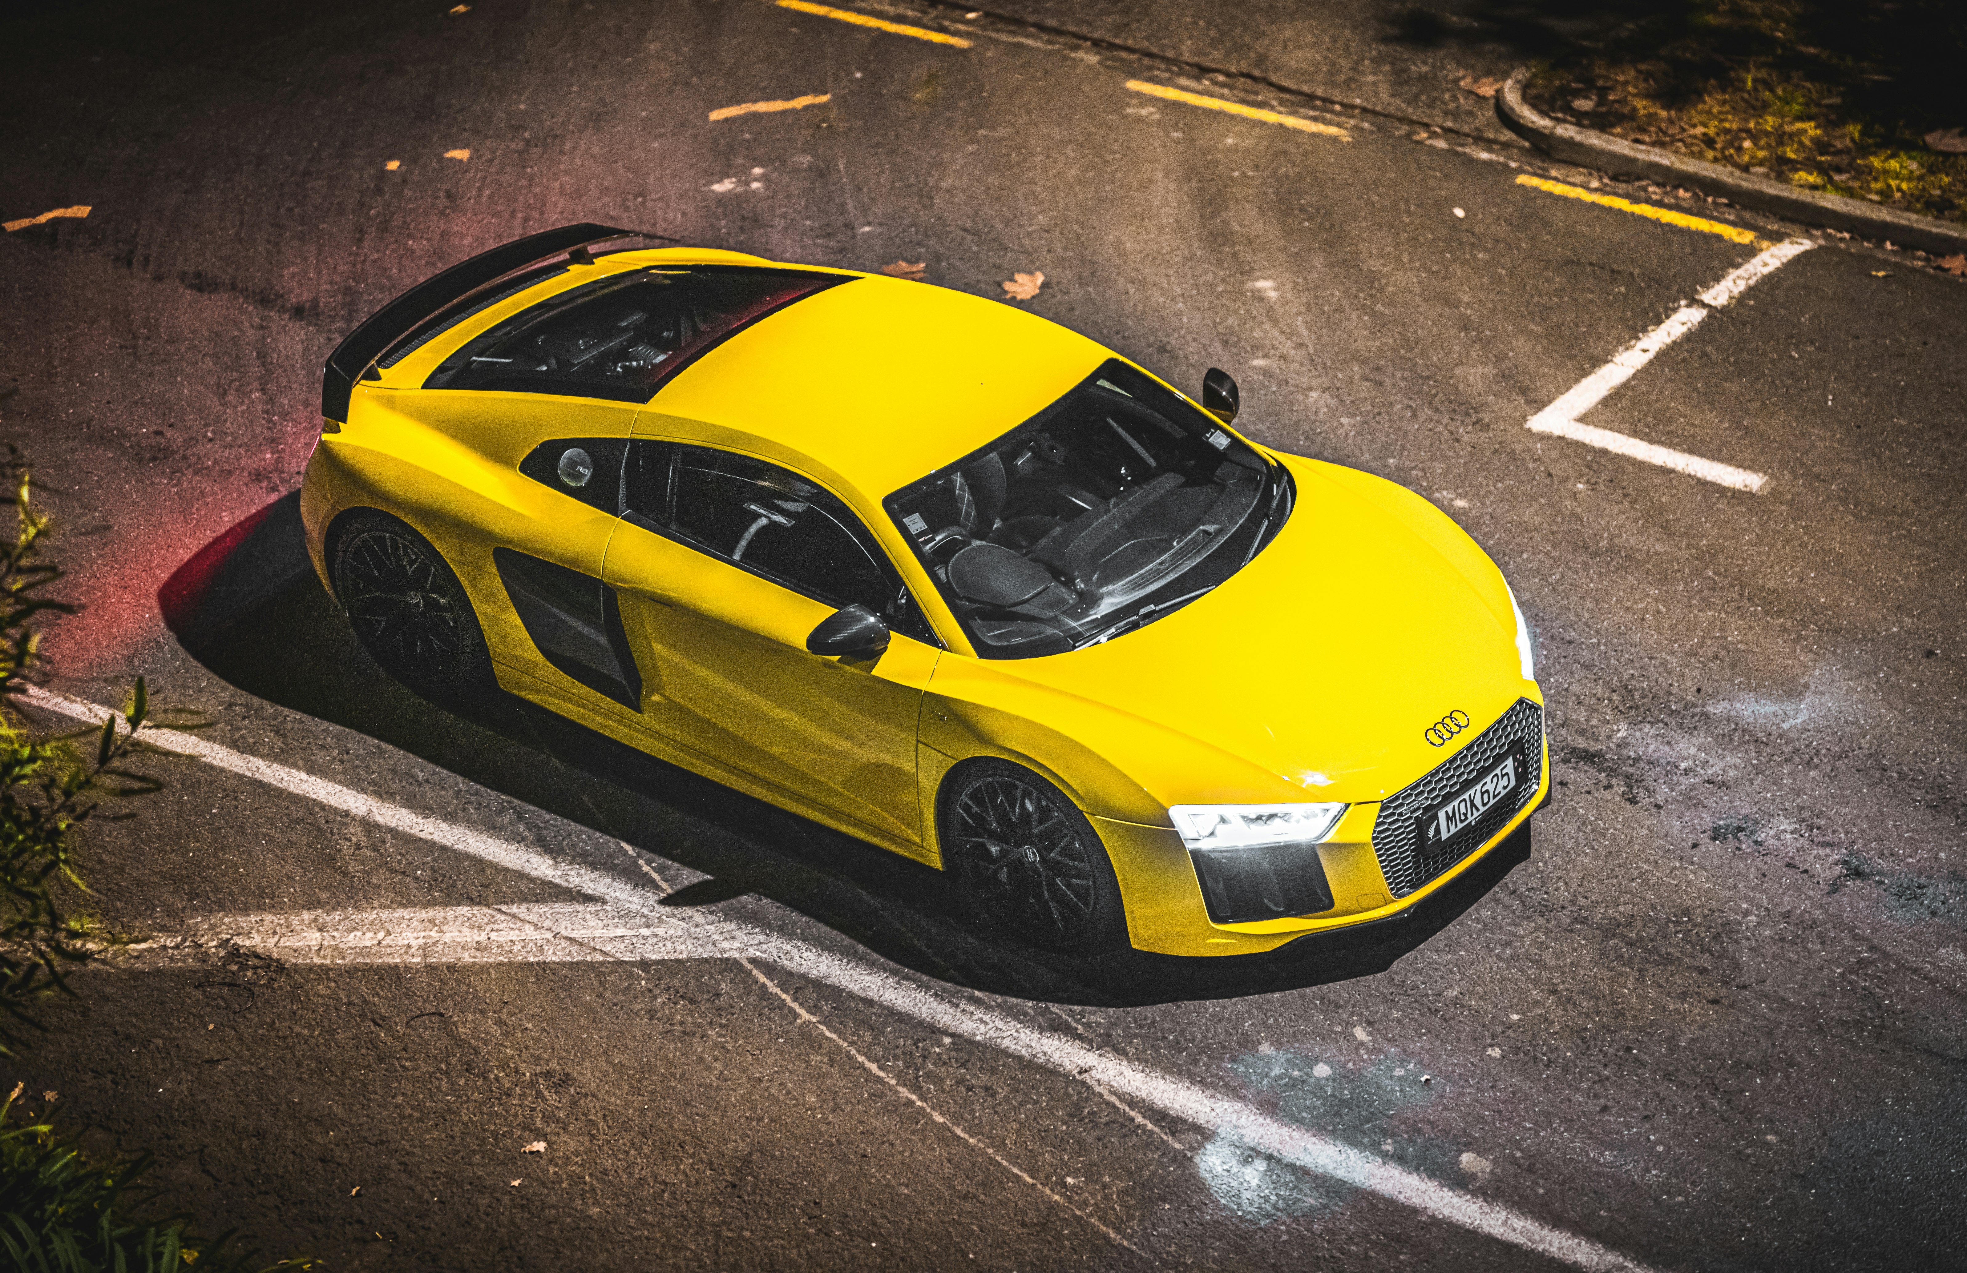
<svg viewBox="0 0 1967 1273"><path fill-rule="evenodd" d="M1119 879L1086 815L1023 765L976 759L942 783L942 862L976 911L1017 939L1098 954L1127 931Z"/></svg>

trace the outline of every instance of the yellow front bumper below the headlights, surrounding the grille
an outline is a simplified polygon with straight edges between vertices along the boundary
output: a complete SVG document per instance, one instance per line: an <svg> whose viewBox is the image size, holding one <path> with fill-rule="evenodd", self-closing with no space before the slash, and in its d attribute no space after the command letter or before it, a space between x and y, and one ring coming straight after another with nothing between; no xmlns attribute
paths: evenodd
<svg viewBox="0 0 1967 1273"><path fill-rule="evenodd" d="M1477 740L1479 742L1479 740ZM1180 834L1170 826L1143 826L1139 822L1119 822L1113 818L1092 818L1100 838L1107 844L1107 858L1119 878L1121 901L1127 909L1127 935L1137 950L1157 954L1261 954L1277 950L1310 933L1369 925L1404 915L1414 905L1448 887L1497 844L1509 840L1517 828L1530 820L1530 815L1550 793L1550 744L1538 730L1536 789L1520 803L1515 815L1495 826L1481 846L1442 868L1416 887L1397 893L1389 885L1381 868L1381 854L1375 852L1373 832L1383 811L1389 817L1406 820L1404 809L1395 809L1395 801L1353 805L1340 818L1332 834L1318 844L1318 856L1326 870L1334 907L1318 915L1263 919L1253 923L1214 923L1202 897L1202 883L1196 879L1196 866L1182 844ZM1475 746L1463 754L1477 756ZM1450 769L1461 754L1444 761L1436 771ZM1473 761L1465 761L1473 763ZM1426 777L1416 781L1422 787ZM1406 795L1404 791L1401 795ZM1399 799L1399 797L1395 797ZM1391 828L1391 826L1389 826ZM1383 852L1389 846L1387 830L1381 830ZM1401 860L1389 852L1389 860L1399 883L1412 879L1410 860Z"/></svg>

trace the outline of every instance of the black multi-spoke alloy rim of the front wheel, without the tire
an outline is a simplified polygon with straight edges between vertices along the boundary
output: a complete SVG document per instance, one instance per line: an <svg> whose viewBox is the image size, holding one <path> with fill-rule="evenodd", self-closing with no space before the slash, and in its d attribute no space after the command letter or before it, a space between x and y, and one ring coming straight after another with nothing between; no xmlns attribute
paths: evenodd
<svg viewBox="0 0 1967 1273"><path fill-rule="evenodd" d="M1094 913L1094 864L1058 803L1015 777L984 777L956 797L952 840L978 901L1013 933L1062 944Z"/></svg>

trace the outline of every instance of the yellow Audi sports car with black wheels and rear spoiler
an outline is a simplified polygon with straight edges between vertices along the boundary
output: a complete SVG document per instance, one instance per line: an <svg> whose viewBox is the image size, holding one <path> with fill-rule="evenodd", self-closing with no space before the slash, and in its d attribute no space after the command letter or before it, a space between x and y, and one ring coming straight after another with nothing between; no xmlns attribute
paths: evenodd
<svg viewBox="0 0 1967 1273"><path fill-rule="evenodd" d="M328 358L301 510L382 667L960 874L1023 940L1404 913L1548 793L1530 632L1381 478L1007 303L566 226Z"/></svg>

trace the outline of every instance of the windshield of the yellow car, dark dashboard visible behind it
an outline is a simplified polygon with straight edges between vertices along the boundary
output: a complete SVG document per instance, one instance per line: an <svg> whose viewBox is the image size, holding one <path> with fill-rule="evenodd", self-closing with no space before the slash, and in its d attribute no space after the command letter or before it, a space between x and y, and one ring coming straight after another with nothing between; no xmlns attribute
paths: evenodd
<svg viewBox="0 0 1967 1273"><path fill-rule="evenodd" d="M1257 555L1290 480L1113 358L984 451L885 500L985 659L1153 622Z"/></svg>

